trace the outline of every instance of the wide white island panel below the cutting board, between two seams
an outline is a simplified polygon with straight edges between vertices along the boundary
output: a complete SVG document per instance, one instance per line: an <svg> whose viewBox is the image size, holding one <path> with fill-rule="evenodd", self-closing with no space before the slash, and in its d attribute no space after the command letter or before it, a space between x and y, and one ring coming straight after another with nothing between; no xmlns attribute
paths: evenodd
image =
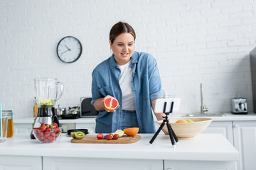
<svg viewBox="0 0 256 170"><path fill-rule="evenodd" d="M163 170L162 160L43 157L43 170Z"/></svg>

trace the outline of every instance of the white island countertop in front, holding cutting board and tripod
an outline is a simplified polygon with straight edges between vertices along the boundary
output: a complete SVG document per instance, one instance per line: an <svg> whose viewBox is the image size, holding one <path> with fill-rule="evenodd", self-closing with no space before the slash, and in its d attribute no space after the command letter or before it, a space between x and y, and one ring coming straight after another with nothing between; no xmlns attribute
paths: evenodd
<svg viewBox="0 0 256 170"><path fill-rule="evenodd" d="M238 151L220 134L200 134L171 145L169 135L139 134L142 139L132 144L78 144L63 134L53 143L31 140L28 134L17 134L0 143L0 155L40 157L90 157L112 159L168 159L199 161L238 161Z"/></svg>

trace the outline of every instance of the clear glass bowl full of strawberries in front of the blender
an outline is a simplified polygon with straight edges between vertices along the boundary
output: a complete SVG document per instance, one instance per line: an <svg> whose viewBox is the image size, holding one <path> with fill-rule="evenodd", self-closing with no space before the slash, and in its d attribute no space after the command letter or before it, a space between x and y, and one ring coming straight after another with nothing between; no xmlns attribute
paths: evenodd
<svg viewBox="0 0 256 170"><path fill-rule="evenodd" d="M36 140L43 143L55 142L61 136L61 128L57 123L51 125L41 123L39 128L33 128L33 135Z"/></svg>

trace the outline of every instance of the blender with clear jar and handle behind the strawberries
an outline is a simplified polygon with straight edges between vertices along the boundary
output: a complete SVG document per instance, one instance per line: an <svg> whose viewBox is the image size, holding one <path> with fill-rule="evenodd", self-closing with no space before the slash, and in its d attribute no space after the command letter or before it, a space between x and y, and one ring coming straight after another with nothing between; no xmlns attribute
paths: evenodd
<svg viewBox="0 0 256 170"><path fill-rule="evenodd" d="M63 95L63 84L55 78L34 79L36 88L36 103L38 104L38 115L36 116L33 128L40 127L41 123L48 125L57 123L58 116L55 113L55 103ZM31 139L36 139L31 132Z"/></svg>

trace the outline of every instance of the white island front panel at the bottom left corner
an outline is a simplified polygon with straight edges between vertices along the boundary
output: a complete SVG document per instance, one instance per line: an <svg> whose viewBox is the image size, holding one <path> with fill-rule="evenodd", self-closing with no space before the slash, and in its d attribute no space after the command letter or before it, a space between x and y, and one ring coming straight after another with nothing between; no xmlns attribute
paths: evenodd
<svg viewBox="0 0 256 170"><path fill-rule="evenodd" d="M42 170L42 157L0 156L2 170Z"/></svg>

